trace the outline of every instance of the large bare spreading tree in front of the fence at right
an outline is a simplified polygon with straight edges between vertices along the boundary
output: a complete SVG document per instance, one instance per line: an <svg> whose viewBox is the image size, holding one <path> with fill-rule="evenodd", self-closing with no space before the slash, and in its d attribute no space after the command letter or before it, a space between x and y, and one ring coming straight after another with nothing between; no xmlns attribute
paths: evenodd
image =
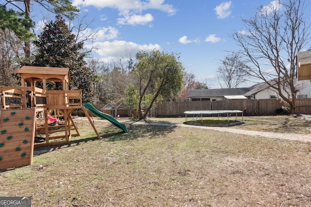
<svg viewBox="0 0 311 207"><path fill-rule="evenodd" d="M275 89L294 113L299 91L295 57L310 39L306 4L305 0L272 2L261 6L250 19L242 19L246 30L234 31L231 37L248 61L246 72Z"/></svg>

